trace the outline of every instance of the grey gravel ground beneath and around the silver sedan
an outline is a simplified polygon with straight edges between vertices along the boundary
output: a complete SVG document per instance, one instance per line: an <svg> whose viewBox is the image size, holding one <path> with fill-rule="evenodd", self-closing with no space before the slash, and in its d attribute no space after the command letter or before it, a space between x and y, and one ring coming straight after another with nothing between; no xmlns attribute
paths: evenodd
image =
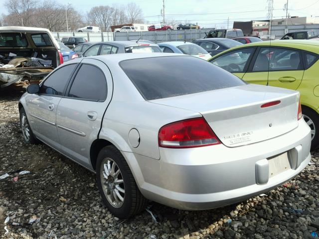
<svg viewBox="0 0 319 239"><path fill-rule="evenodd" d="M19 93L0 92L0 237L91 239L302 239L319 234L319 151L296 178L265 196L188 212L150 203L130 220L103 206L95 175L44 144L27 145ZM19 175L21 170L30 173ZM17 181L15 177L17 178ZM9 215L9 222L4 224ZM32 223L33 221L33 223ZM5 234L5 229L8 233Z"/></svg>

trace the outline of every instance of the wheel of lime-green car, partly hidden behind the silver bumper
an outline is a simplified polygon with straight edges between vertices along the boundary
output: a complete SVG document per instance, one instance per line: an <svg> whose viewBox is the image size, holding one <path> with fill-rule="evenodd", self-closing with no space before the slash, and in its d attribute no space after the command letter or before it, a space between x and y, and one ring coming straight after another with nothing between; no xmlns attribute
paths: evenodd
<svg viewBox="0 0 319 239"><path fill-rule="evenodd" d="M303 117L312 130L311 150L319 146L319 115L308 107L302 107Z"/></svg>

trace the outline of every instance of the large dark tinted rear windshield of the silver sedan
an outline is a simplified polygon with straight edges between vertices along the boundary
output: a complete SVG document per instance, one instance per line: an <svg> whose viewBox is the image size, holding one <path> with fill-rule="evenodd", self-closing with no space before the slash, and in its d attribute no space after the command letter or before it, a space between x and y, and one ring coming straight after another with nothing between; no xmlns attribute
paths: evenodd
<svg viewBox="0 0 319 239"><path fill-rule="evenodd" d="M245 85L233 74L191 56L131 59L120 66L145 100Z"/></svg>

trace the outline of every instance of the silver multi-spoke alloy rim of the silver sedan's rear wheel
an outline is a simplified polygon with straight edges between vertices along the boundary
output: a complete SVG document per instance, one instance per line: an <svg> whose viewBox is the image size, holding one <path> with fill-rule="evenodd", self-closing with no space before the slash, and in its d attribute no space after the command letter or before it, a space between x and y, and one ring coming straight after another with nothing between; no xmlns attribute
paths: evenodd
<svg viewBox="0 0 319 239"><path fill-rule="evenodd" d="M100 177L108 202L115 208L122 207L125 198L125 185L119 166L111 158L103 159Z"/></svg>

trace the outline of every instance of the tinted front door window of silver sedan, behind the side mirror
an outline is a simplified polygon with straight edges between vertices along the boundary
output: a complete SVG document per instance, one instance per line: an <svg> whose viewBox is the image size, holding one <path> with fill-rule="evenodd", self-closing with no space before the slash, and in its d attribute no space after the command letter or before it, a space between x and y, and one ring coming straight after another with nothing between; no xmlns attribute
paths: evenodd
<svg viewBox="0 0 319 239"><path fill-rule="evenodd" d="M76 64L66 65L56 69L46 78L40 87L40 94L62 96L66 84L74 71Z"/></svg>

